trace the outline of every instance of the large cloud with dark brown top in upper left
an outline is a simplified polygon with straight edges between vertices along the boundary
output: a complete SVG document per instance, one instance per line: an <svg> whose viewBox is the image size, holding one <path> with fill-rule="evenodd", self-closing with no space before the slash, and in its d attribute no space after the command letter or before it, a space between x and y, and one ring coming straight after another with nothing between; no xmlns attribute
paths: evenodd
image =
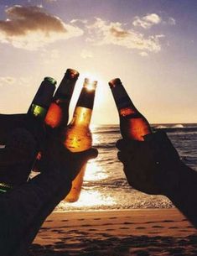
<svg viewBox="0 0 197 256"><path fill-rule="evenodd" d="M83 34L78 27L65 24L60 18L41 7L7 8L6 20L0 20L0 42L26 50L37 50L60 39Z"/></svg>

